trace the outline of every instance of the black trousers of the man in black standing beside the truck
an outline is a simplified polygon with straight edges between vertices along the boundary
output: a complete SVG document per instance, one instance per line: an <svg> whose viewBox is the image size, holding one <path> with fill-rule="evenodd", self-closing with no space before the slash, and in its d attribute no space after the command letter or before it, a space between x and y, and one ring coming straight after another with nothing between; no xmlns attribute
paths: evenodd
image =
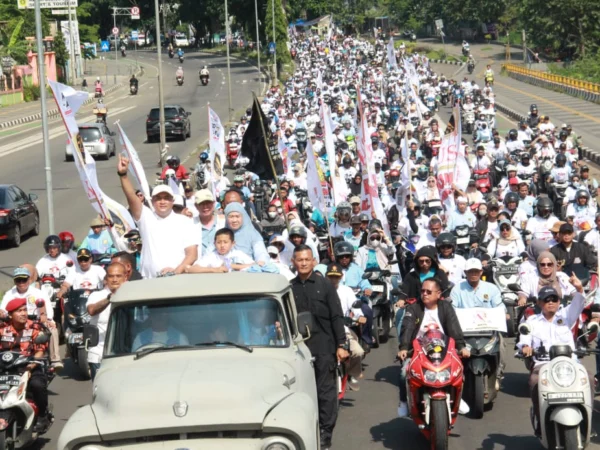
<svg viewBox="0 0 600 450"><path fill-rule="evenodd" d="M315 379L317 381L317 398L319 400L319 424L321 438L331 440L335 422L337 421L337 357L335 354L315 355Z"/></svg>

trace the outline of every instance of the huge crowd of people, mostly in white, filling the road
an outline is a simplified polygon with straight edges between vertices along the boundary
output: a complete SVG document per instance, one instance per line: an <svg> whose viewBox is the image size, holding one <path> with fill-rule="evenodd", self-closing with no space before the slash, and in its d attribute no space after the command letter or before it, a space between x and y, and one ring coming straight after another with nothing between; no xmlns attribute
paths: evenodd
<svg viewBox="0 0 600 450"><path fill-rule="evenodd" d="M496 129L491 83L480 87L468 77L448 79L435 73L425 56L408 54L404 45L390 56L381 39L297 35L291 44L296 73L261 102L271 131L287 149L286 173L278 183L244 172L247 158L240 154L232 184L223 181L212 189L209 183L198 190L185 182L185 169L173 157L167 159L169 168L179 174L183 195L159 184L145 198L128 175L129 160L121 155L117 176L137 229L120 236L112 223L95 218L77 248L69 232L49 236L37 264L15 270L15 287L0 308L14 320L23 307L42 314L54 330L49 344L53 367L62 367L60 324L53 321L48 295L35 287L47 274L61 280L59 299L70 289L94 291L87 311L100 330L100 342L89 349L92 377L101 367L110 299L123 283L188 273L282 274L299 312L326 311L318 317L323 333L307 342L315 356L324 449L331 446L337 417L335 363L347 361L350 389L357 390L361 361L379 343L371 302L376 292L367 272L380 272L387 286L386 319L395 325L402 361L400 416L408 414L404 380L413 340L434 325L454 338L460 356L468 358L456 309L506 309L494 283L496 259L518 258L518 304L538 299L541 312L528 320L546 319L543 344L573 347L570 333L555 332L570 323L561 319L567 316L555 300L574 294L569 308L583 308L577 293L584 287L576 274L579 268L597 270L600 215L598 184L581 160L572 128L554 127L532 105L528 120L503 136ZM460 115L447 127L436 115L444 104ZM331 114L329 124L323 123L321 105ZM251 110L231 128L228 145L241 141L250 116ZM448 186L438 176L439 157L444 134L456 132L459 123L458 151L471 176L455 178ZM361 161L361 148L371 153L372 169ZM307 156L310 151L313 155ZM206 153L203 158L204 164ZM307 199L311 159L323 183L339 177L345 188L345 198L332 195L326 211ZM408 188L403 173L409 174ZM365 201L370 179L376 180L383 217ZM36 299L43 299L45 307L37 306ZM539 339L524 336L517 344L526 356L536 345ZM501 347L504 360L504 342ZM500 382L503 371L501 364ZM536 383L534 371L534 395ZM461 412L468 409L463 401Z"/></svg>

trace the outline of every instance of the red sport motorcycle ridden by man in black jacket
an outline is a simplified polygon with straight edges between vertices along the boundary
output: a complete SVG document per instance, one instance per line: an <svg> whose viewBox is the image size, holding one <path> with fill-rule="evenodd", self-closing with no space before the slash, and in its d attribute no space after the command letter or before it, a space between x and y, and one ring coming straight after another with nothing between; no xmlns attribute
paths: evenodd
<svg viewBox="0 0 600 450"><path fill-rule="evenodd" d="M413 341L413 349L406 368L408 410L431 448L446 450L448 435L458 417L463 365L454 339L439 339L431 330Z"/></svg>

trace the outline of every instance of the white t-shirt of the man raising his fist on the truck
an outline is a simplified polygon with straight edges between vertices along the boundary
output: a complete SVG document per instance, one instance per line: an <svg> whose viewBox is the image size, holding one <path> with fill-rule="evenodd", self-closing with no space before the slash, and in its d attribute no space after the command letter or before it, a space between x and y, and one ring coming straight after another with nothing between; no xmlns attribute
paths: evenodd
<svg viewBox="0 0 600 450"><path fill-rule="evenodd" d="M155 278L165 267L176 268L185 258L185 249L201 240L188 217L171 212L162 218L146 206L138 227L144 242L140 267L144 278Z"/></svg>

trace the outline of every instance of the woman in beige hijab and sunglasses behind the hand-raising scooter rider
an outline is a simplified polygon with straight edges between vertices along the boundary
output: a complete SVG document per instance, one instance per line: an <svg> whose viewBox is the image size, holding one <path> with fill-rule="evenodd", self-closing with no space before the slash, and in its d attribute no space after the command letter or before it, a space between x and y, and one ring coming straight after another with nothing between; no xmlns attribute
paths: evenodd
<svg viewBox="0 0 600 450"><path fill-rule="evenodd" d="M558 272L556 258L547 250L538 256L536 271L521 280L519 306L524 305L529 297L537 297L539 290L545 286L554 288L560 298L575 293L575 287L571 284L569 276L564 272Z"/></svg>

